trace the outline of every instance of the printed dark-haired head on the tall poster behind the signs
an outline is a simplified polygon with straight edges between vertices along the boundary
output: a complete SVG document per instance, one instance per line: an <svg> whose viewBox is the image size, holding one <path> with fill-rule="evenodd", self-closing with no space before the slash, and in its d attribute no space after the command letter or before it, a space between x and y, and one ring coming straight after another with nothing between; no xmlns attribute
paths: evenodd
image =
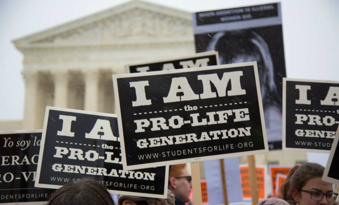
<svg viewBox="0 0 339 205"><path fill-rule="evenodd" d="M262 105L265 109L274 104L281 110L269 46L259 34L248 30L218 32L206 50L218 51L220 64L257 61Z"/></svg>

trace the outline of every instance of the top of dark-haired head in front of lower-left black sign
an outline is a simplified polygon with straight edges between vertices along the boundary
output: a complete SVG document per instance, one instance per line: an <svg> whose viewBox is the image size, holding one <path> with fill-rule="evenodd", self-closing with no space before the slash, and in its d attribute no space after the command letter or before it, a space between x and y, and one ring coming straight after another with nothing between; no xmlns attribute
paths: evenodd
<svg viewBox="0 0 339 205"><path fill-rule="evenodd" d="M106 187L92 177L83 177L56 190L48 205L114 205Z"/></svg>

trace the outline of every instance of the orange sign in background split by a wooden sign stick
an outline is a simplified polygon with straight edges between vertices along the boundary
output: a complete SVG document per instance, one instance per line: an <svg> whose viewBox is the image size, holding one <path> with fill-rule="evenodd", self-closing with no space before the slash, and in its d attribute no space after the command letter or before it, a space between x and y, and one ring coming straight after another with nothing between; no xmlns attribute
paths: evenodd
<svg viewBox="0 0 339 205"><path fill-rule="evenodd" d="M240 166L240 181L242 189L242 198L250 199L252 197L251 187L250 187L250 171L247 165ZM257 177L257 186L258 186L258 198L263 200L266 198L266 168L265 167L256 167L255 173Z"/></svg>

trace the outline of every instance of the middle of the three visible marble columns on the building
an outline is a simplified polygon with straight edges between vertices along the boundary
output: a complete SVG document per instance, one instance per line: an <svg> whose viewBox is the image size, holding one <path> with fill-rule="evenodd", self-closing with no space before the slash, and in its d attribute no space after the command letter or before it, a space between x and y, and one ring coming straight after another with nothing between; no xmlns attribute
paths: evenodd
<svg viewBox="0 0 339 205"><path fill-rule="evenodd" d="M67 70L53 70L54 79L54 106L68 107L68 79Z"/></svg>

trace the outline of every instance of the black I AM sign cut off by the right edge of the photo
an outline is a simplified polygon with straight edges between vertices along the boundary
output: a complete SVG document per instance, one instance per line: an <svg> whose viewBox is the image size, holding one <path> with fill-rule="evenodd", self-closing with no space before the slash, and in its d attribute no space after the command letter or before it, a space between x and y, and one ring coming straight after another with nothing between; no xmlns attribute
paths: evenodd
<svg viewBox="0 0 339 205"><path fill-rule="evenodd" d="M331 150L339 125L339 82L284 78L283 150Z"/></svg>

